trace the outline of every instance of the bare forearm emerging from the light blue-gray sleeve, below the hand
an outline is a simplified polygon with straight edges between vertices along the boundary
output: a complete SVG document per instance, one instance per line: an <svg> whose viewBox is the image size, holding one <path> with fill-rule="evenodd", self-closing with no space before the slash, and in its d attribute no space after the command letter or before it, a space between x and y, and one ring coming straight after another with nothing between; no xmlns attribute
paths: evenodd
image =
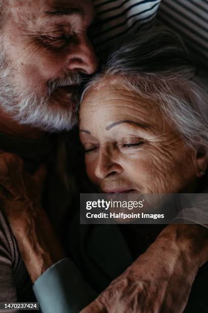
<svg viewBox="0 0 208 313"><path fill-rule="evenodd" d="M25 209L21 216L13 216L9 221L33 282L51 265L65 257L59 239L42 208Z"/></svg>

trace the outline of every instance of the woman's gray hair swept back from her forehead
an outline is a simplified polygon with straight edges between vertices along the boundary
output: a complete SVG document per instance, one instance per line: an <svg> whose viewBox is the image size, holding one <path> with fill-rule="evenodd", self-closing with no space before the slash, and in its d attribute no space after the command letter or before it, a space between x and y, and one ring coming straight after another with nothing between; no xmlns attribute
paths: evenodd
<svg viewBox="0 0 208 313"><path fill-rule="evenodd" d="M109 78L157 104L181 138L208 155L207 92L178 36L156 29L128 38L86 85L82 99Z"/></svg>

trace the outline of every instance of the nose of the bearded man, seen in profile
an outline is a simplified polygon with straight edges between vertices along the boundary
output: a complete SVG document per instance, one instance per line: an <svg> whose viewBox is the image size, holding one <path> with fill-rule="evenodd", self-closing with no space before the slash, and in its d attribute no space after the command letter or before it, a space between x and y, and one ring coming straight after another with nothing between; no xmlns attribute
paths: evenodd
<svg viewBox="0 0 208 313"><path fill-rule="evenodd" d="M86 35L81 35L71 44L67 59L68 69L72 72L93 74L97 70L98 61L92 44Z"/></svg>

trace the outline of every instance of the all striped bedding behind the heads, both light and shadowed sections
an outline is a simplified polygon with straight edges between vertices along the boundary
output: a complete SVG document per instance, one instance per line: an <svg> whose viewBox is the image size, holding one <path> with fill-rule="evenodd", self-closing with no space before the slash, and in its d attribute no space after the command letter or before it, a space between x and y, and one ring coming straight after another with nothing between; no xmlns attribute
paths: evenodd
<svg viewBox="0 0 208 313"><path fill-rule="evenodd" d="M161 4L160 4L161 3ZM93 43L107 46L116 37L159 24L183 37L194 57L208 68L208 0L93 0L98 24Z"/></svg>

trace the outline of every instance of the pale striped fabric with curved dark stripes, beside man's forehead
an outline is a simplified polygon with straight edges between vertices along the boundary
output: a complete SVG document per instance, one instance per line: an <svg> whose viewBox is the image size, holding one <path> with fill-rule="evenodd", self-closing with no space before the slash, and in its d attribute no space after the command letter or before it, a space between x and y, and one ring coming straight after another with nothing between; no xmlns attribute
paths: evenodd
<svg viewBox="0 0 208 313"><path fill-rule="evenodd" d="M95 44L110 44L111 40L147 29L157 14L160 0L93 0L97 27Z"/></svg>

